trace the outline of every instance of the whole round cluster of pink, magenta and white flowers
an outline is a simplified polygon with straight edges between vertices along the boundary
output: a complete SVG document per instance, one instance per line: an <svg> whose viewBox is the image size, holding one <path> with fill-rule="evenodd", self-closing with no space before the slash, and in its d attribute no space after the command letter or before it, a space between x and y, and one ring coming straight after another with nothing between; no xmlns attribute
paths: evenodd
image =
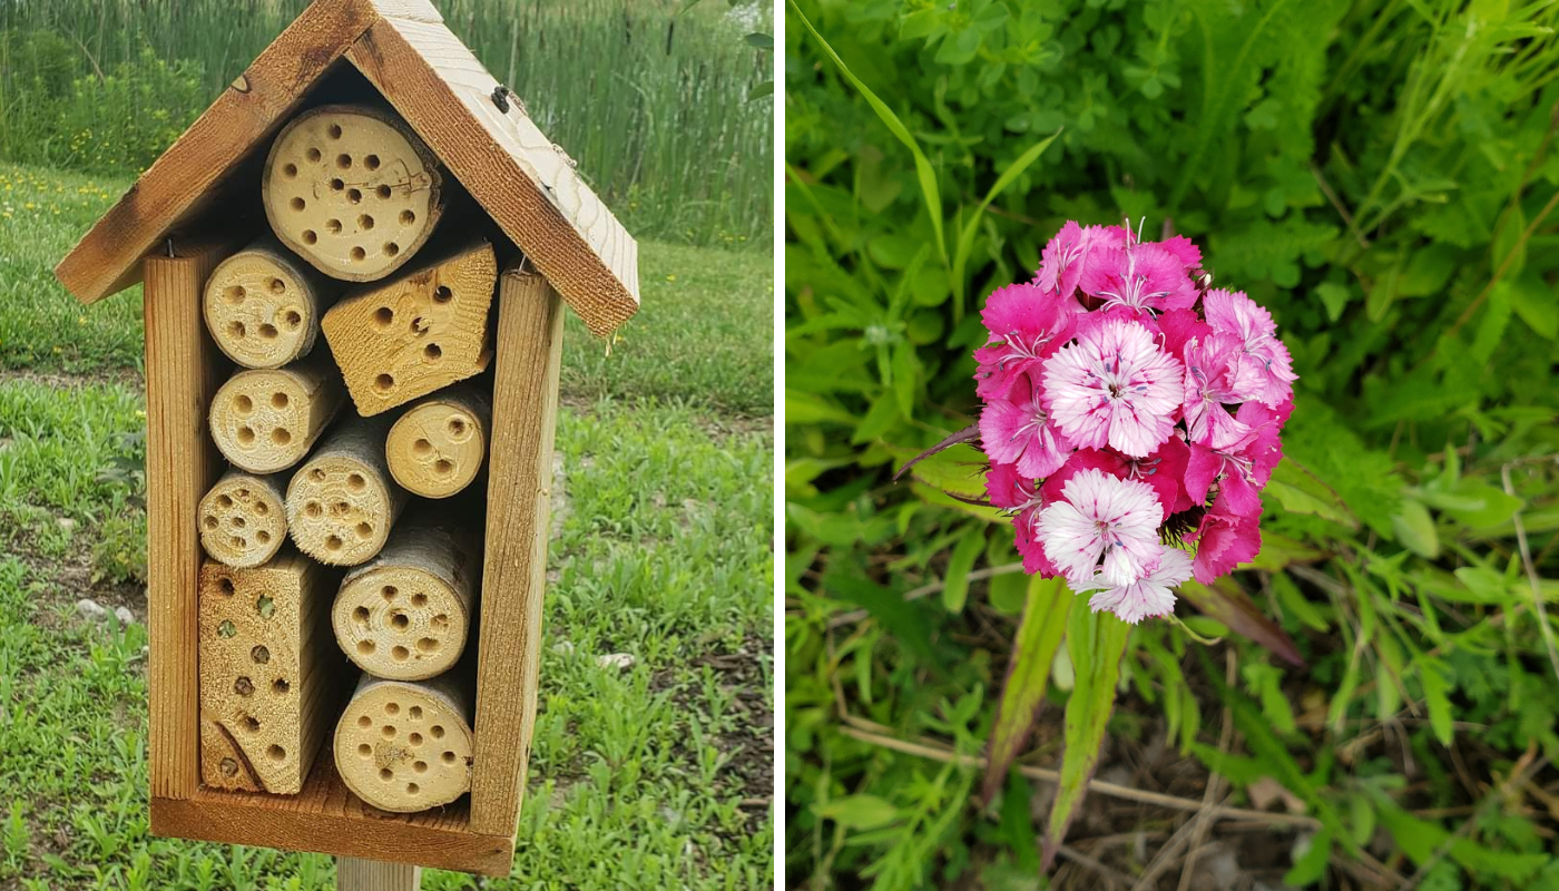
<svg viewBox="0 0 1559 891"><path fill-rule="evenodd" d="M1032 284L990 295L974 351L985 488L1024 568L1133 624L1261 549L1294 407L1272 317L1200 267L1183 236L1066 223Z"/></svg>

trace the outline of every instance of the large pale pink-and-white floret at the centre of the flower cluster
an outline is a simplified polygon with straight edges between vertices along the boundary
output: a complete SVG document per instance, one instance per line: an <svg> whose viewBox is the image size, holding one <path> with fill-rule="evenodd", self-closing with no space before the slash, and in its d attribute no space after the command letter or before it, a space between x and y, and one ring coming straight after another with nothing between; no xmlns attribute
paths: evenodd
<svg viewBox="0 0 1559 891"><path fill-rule="evenodd" d="M1174 429L1182 384L1180 362L1146 328L1112 318L1045 360L1043 396L1074 446L1147 457Z"/></svg>

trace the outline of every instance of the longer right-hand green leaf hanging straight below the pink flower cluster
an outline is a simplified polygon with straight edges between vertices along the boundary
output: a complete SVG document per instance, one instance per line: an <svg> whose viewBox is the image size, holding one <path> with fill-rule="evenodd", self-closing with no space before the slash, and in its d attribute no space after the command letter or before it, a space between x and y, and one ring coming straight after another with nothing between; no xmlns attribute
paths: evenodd
<svg viewBox="0 0 1559 891"><path fill-rule="evenodd" d="M1132 626L1113 613L1088 609L1071 610L1066 619L1066 651L1077 671L1076 685L1066 701L1066 726L1062 751L1060 783L1051 821L1045 830L1043 863L1049 869L1055 852L1066 840L1066 827L1077 816L1077 805L1088 793L1088 780L1099 766L1099 746L1115 710L1115 687L1121 679L1121 657Z"/></svg>

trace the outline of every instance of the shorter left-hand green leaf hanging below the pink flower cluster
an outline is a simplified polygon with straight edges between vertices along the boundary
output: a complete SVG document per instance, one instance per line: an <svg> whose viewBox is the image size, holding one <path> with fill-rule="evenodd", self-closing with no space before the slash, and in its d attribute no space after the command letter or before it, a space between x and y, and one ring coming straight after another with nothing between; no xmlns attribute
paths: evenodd
<svg viewBox="0 0 1559 891"><path fill-rule="evenodd" d="M1023 624L1012 648L1007 665L1007 680L996 705L996 721L985 751L984 797L988 804L1001 788L1007 768L1029 740L1034 721L1045 705L1045 688L1049 683L1051 663L1055 649L1066 632L1066 616L1076 596L1063 579L1029 577L1027 604L1023 609Z"/></svg>

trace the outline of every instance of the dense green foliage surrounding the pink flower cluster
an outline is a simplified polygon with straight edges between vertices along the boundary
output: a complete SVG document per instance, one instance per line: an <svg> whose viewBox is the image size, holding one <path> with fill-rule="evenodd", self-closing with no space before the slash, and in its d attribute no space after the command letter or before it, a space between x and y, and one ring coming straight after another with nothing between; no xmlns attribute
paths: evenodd
<svg viewBox="0 0 1559 891"><path fill-rule="evenodd" d="M1239 666L1225 685L1183 629L1144 624L1108 752L1168 733L1236 804L1261 777L1286 786L1319 821L1272 841L1296 846L1291 885L1373 860L1434 888L1559 885L1554 815L1503 785L1529 743L1559 758L1536 616L1559 599L1556 27L1522 0L790 11L792 883L1034 886L1049 805L1029 782L984 810L977 771L882 744L982 752L1026 601L1021 574L982 571L1015 562L1010 527L939 492L981 492L967 449L889 476L971 423L984 295L1029 279L1063 220L1126 217L1193 237L1294 354L1266 548L1222 595L1306 665L1235 635L1214 651ZM1073 690L1063 663L1041 724ZM1020 761L1054 765L1059 730L1041 740Z"/></svg>

